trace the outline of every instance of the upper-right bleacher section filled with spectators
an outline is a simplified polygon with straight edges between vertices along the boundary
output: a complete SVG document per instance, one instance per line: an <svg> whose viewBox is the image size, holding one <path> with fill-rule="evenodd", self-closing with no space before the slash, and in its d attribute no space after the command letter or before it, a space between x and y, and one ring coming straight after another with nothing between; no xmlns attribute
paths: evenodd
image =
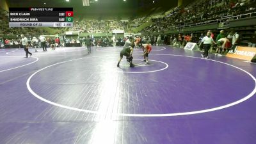
<svg viewBox="0 0 256 144"><path fill-rule="evenodd" d="M220 22L222 28L228 28L229 20L256 15L255 1L243 1L236 5L231 7L228 0L195 0L178 11L173 10L168 12L170 14L164 13L159 19L153 19L154 24L142 29L141 32L161 33L175 29L182 31L184 28Z"/></svg>

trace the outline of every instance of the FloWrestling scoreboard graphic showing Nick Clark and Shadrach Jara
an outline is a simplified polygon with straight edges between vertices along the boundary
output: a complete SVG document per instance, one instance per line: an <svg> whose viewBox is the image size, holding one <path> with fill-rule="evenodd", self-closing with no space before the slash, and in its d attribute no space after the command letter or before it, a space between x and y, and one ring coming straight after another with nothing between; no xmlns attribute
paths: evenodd
<svg viewBox="0 0 256 144"><path fill-rule="evenodd" d="M9 8L12 27L73 27L73 8Z"/></svg>

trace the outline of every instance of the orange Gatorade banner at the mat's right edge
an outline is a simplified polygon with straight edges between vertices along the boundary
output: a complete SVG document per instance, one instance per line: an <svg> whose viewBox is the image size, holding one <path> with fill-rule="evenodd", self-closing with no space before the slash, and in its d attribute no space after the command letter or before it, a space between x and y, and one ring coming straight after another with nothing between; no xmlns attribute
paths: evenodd
<svg viewBox="0 0 256 144"><path fill-rule="evenodd" d="M256 55L255 48L237 46L236 52L234 53L228 52L226 56L230 58L238 58L241 60L251 61L255 55Z"/></svg>

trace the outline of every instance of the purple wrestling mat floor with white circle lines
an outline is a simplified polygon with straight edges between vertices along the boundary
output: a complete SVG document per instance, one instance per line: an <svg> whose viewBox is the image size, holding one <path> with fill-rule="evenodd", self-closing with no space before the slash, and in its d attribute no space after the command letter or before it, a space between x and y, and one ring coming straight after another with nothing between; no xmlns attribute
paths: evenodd
<svg viewBox="0 0 256 144"><path fill-rule="evenodd" d="M255 144L256 65L168 46L0 49L1 144ZM29 49L29 51L34 51Z"/></svg>

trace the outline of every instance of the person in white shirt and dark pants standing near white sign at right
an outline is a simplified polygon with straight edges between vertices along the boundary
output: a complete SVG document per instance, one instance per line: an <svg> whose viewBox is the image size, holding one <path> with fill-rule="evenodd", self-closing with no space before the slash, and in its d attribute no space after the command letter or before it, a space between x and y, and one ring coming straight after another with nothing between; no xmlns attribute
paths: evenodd
<svg viewBox="0 0 256 144"><path fill-rule="evenodd" d="M202 58L208 58L208 51L211 48L212 43L216 44L211 37L211 32L207 32L206 36L202 39L201 44L204 44L204 52L201 54ZM200 45L201 45L200 44Z"/></svg>

